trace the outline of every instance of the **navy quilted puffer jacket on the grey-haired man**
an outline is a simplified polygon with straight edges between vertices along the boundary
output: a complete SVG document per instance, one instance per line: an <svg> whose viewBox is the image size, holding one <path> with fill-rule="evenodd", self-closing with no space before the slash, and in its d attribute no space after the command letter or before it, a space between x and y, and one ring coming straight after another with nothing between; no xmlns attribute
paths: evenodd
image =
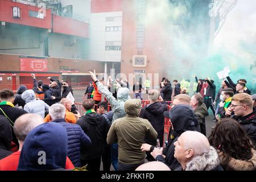
<svg viewBox="0 0 256 182"><path fill-rule="evenodd" d="M81 167L80 148L88 150L92 142L90 138L81 129L81 126L65 122L65 119L56 119L56 123L62 125L68 134L68 158L75 167Z"/></svg>

